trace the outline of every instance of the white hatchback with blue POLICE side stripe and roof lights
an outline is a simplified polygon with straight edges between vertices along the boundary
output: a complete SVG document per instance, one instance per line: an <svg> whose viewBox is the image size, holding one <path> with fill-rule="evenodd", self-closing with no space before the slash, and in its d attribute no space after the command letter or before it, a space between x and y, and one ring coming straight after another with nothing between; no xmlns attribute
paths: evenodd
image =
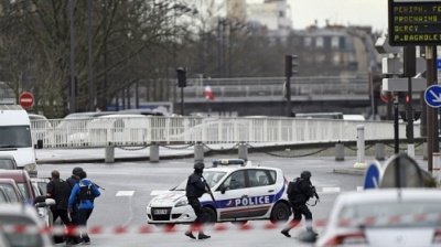
<svg viewBox="0 0 441 247"><path fill-rule="evenodd" d="M205 193L201 204L209 223L269 219L288 221L291 210L287 198L287 180L280 169L254 167L241 159L213 161L204 169L213 197ZM185 196L186 180L153 197L147 206L149 224L185 224L196 218ZM152 192L154 193L154 192Z"/></svg>

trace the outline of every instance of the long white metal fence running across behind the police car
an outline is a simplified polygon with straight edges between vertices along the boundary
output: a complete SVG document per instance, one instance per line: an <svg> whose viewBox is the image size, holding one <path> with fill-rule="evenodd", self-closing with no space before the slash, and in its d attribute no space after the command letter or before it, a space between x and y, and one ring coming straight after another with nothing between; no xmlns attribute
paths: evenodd
<svg viewBox="0 0 441 247"><path fill-rule="evenodd" d="M44 148L146 146L152 142L313 143L357 140L357 126L365 128L365 140L394 139L391 121L348 121L294 118L201 118L125 117L79 120L33 120L34 143ZM419 137L418 126L415 136ZM406 125L399 125L400 137Z"/></svg>

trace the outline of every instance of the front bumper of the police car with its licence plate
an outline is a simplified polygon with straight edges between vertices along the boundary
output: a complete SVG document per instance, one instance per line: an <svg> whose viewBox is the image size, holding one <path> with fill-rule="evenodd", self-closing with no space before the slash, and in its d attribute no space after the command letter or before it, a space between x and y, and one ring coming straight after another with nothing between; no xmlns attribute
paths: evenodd
<svg viewBox="0 0 441 247"><path fill-rule="evenodd" d="M196 219L190 205L180 207L151 206L147 208L148 224L184 224Z"/></svg>

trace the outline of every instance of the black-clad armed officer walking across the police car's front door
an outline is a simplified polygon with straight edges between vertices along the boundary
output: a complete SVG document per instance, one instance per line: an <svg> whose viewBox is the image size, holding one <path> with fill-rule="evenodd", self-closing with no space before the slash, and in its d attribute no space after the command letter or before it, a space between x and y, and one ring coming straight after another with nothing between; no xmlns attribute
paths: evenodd
<svg viewBox="0 0 441 247"><path fill-rule="evenodd" d="M193 207L194 214L196 215L196 219L194 223L190 226L190 228L185 232L185 236L196 239L196 237L193 235L192 230L196 229L198 230L198 239L205 239L209 238L211 236L205 235L203 229L202 229L202 224L205 223L207 216L205 213L204 207L202 207L200 197L207 192L207 184L202 176L202 172L204 171L204 163L202 162L196 162L194 164L194 172L189 176L189 180L186 182L186 189L185 189L185 194L186 197L189 198L189 204Z"/></svg>

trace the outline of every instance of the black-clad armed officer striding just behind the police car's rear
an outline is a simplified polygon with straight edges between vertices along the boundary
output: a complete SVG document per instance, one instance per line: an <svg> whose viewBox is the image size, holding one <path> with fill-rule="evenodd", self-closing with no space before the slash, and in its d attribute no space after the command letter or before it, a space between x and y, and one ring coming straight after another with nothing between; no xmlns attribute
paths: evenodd
<svg viewBox="0 0 441 247"><path fill-rule="evenodd" d="M320 198L315 187L311 183L311 172L303 171L300 174L300 178L297 178L293 182L290 182L287 193L294 217L292 218L291 223L288 224L280 233L287 237L291 237L289 230L295 227L302 221L302 215L304 215L305 218L306 229L313 232L312 213L306 203L314 196L316 197L316 202Z"/></svg>

